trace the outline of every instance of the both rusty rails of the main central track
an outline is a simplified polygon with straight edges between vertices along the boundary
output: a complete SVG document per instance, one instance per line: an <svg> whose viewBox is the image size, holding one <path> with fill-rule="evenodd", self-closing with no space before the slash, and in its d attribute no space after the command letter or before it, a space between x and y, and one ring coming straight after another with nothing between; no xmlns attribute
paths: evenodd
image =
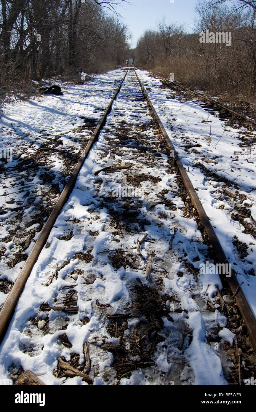
<svg viewBox="0 0 256 412"><path fill-rule="evenodd" d="M127 73L128 73L128 70L126 72L126 75L127 75ZM138 77L136 71L135 71L135 74L137 76L138 82L140 83L140 87L142 89L142 92L143 92L145 98L147 99L147 101L148 101L148 103L151 107L151 110L154 113L154 116L156 117L158 125L161 128L161 131L163 133L163 136L165 137L166 143L168 144L168 147L170 147L170 149L173 150L173 153L174 153L174 156L175 156L175 161L176 161L177 167L179 169L179 172L181 173L184 185L186 186L186 188L189 192L191 202L192 202L193 206L196 208L196 210L198 211L198 214L199 214L199 217L202 221L202 224L205 227L205 230L206 230L206 232L209 236L209 239L212 243L212 246L213 246L215 254L216 254L216 259L221 264L223 264L223 263L227 264L228 259L226 258L226 255L225 255L225 253L224 253L224 251L221 247L221 244L219 242L219 239L217 238L217 236L214 232L214 229L213 229L211 223L209 222L209 219L207 218L205 210L204 210L202 204L200 203L200 200L198 199L198 196L197 196L197 194L196 194L196 192L193 188L193 185L191 183L191 180L189 179L189 176L187 175L187 173L184 169L184 166L182 165L182 162L180 161L179 156L177 155L177 152L175 151L175 148L172 145L172 142L170 141L170 138L169 138L167 132L165 131L165 128L164 128L160 118L158 117L158 115L156 113L156 110L155 110L153 104L151 103L150 98L147 94L147 91L145 90L142 82L140 81L140 78ZM74 183L75 183L77 175L78 175L78 173L79 173L79 171L80 171L80 169L81 169L81 167L84 163L84 160L88 156L88 153L91 150L91 147L93 146L95 141L98 139L100 129L105 124L106 117L107 117L107 115L109 114L109 112L112 108L112 103L114 102L117 94L119 93L119 91L121 89L121 85L123 84L123 81L124 81L126 75L121 80L121 83L119 84L118 89L116 90L114 96L112 97L112 100L110 101L104 115L100 119L100 122L99 122L98 126L96 127L93 135L91 136L91 139L90 139L88 145L86 146L81 158L79 159L79 162L77 163L77 166L75 167L69 181L67 182L67 185L65 186L65 188L64 188L64 190L61 194L61 197L58 199L58 202L57 202L56 206L54 207L54 210L52 211L49 219L47 220L44 228L42 229L42 232L41 232L37 242L35 243L35 246L34 246L32 252L30 253L30 255L28 257L28 260L26 261L26 263L25 263L18 279L16 280L9 296L7 297L7 300L5 301L4 306L2 307L2 310L0 312L0 335L5 330L7 322L9 321L9 318L12 314L12 311L14 310L14 308L16 306L16 302L19 299L19 296L20 296L20 294L23 290L23 287L26 283L26 280L28 279L28 276L30 275L31 270L32 270L33 266L35 265L35 263L37 261L37 258L40 255L40 252L41 252L42 248L44 247L45 242L47 241L49 233L50 233L50 231L51 231L51 229L52 229L52 227L53 227L53 225L56 221L56 218L58 217L58 215L61 211L61 208L62 208L63 204L65 203L68 195L70 194L72 188L74 187ZM167 79L165 79L165 80L167 80ZM198 94L198 95L200 95L200 94ZM256 122L255 122L255 124L256 124ZM239 283L237 281L236 274L233 270L232 270L231 276L229 278L228 277L226 278L226 281L228 282L228 285L230 287L231 292L233 293L233 295L235 295L235 300L236 300L237 306L240 309L241 315L244 319L244 323L247 327L248 334L249 334L249 337L251 339L252 346L253 346L254 350L256 351L256 318L254 317L254 314L251 311L251 308L249 307L249 304L248 304L248 302L247 302L247 300L244 296L244 293L242 292L242 289L239 288Z"/></svg>

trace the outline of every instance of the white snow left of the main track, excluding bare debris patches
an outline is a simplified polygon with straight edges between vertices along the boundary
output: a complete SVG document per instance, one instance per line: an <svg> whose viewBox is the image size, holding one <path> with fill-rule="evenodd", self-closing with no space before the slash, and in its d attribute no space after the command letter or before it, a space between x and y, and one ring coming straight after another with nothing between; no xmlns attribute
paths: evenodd
<svg viewBox="0 0 256 412"><path fill-rule="evenodd" d="M93 82L88 82L88 84L74 86L70 83L62 84L60 82L63 96L33 97L27 101L15 102L2 107L0 151L3 152L6 148L12 147L13 156L12 161L7 161L5 164L5 172L0 173L2 183L2 187L0 187L0 248L6 248L5 253L1 255L0 280L15 281L25 263L25 261L21 261L10 268L10 261L15 258L15 254L19 250L19 236L20 234L24 235L22 230L30 232L31 229L40 227L40 224L35 224L26 228L26 225L39 213L35 210L34 205L42 203L49 208L49 204L47 204L49 185L43 183L41 173L44 174L49 167L54 176L52 183L59 185L61 193L66 181L62 176L66 167L63 165L63 160L59 159L59 155L62 151L69 150L72 156L75 156L79 149L81 150L78 143L80 134L77 132L79 126L84 124L84 119L81 117L95 119L98 122L122 77L123 70L112 70L103 75L95 75ZM91 133L86 130L83 132L85 137ZM56 140L61 140L63 145L58 145L53 149L51 143ZM46 169L44 166L35 165L34 176L31 173L32 180L26 171L15 171L19 159L27 159L29 155L36 154L41 147L47 145L50 145L51 152L46 159L47 164L44 165ZM31 163L33 162L35 160L31 158ZM14 169L11 169L13 167ZM6 173L8 178L5 176ZM71 174L71 171L68 173ZM26 190L24 190L25 188ZM27 192L26 199L23 198L24 192ZM57 200L58 195L51 196L49 199L51 208L54 207ZM30 201L34 204L33 206L31 206ZM13 210L19 206L21 206L22 219ZM24 206L23 209L22 206ZM12 224L8 224L8 222L12 222ZM17 224L19 225L18 229L16 229ZM13 229L16 229L15 243L6 242L5 238L8 238L9 231ZM34 233L35 236L30 247L25 250L27 255L31 252L41 229L39 228L38 232ZM4 295L0 292L0 307L6 297L7 294Z"/></svg>

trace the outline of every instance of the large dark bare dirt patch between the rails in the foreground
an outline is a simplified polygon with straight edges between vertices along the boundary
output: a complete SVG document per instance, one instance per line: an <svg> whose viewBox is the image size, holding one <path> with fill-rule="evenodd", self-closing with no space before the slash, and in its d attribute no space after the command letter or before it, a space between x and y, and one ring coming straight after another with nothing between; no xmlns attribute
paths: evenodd
<svg viewBox="0 0 256 412"><path fill-rule="evenodd" d="M131 290L133 303L127 312L129 312L129 318L132 314L135 318L141 318L141 321L128 335L129 344L127 345L127 338L123 336L128 328L125 318L111 321L107 326L110 336L120 338L119 348L112 350L108 348L113 355L112 367L116 370L118 379L130 377L131 372L139 368L153 366L152 356L156 351L156 345L165 340L158 335L158 331L163 326L162 316L166 316L168 297L159 300L156 288L142 286L140 281L137 283ZM133 360L135 357L136 361Z"/></svg>

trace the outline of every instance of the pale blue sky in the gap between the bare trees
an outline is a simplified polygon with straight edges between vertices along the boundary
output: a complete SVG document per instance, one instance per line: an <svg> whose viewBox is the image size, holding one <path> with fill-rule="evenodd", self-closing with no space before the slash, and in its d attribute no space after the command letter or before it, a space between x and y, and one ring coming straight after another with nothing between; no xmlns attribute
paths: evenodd
<svg viewBox="0 0 256 412"><path fill-rule="evenodd" d="M195 18L195 4L197 0L128 0L133 3L123 7L115 7L116 11L123 16L126 23L133 33L133 44L135 47L137 39L143 34L144 30L156 27L158 20L163 16L166 21L185 23L187 30L190 28Z"/></svg>

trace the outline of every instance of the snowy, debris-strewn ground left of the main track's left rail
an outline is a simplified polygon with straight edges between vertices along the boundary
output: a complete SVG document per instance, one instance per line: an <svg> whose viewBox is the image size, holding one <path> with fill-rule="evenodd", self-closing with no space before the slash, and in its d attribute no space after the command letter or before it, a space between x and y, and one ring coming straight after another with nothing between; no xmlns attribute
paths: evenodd
<svg viewBox="0 0 256 412"><path fill-rule="evenodd" d="M0 307L123 75L112 70L87 84L59 83L63 96L1 108Z"/></svg>

